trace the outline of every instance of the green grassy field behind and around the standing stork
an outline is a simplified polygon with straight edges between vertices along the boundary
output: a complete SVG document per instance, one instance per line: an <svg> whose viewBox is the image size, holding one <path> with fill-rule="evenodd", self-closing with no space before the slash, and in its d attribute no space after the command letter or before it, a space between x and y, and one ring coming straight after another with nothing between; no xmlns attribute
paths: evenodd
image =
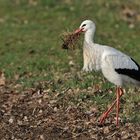
<svg viewBox="0 0 140 140"><path fill-rule="evenodd" d="M77 93L73 105L83 102L87 110L97 105L102 112L115 98L114 85L100 73L82 72L82 45L63 50L60 36L91 19L97 26L95 42L140 62L139 6L139 0L0 0L0 71L8 85L20 85L19 91L53 82L41 87L61 94L70 88ZM95 95L96 86L100 94ZM140 91L127 89L123 101L123 121L140 122Z"/></svg>

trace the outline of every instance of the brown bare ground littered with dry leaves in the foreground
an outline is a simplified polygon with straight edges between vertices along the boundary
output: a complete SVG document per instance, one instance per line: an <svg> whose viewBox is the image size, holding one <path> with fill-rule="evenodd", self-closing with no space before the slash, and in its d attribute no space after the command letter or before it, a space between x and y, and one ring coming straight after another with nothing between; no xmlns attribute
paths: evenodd
<svg viewBox="0 0 140 140"><path fill-rule="evenodd" d="M73 89L59 93L48 86L24 91L19 87L0 87L1 140L140 140L140 124L120 123L117 128L111 116L100 126L96 108L88 112L82 101L76 105L71 102L76 92Z"/></svg>

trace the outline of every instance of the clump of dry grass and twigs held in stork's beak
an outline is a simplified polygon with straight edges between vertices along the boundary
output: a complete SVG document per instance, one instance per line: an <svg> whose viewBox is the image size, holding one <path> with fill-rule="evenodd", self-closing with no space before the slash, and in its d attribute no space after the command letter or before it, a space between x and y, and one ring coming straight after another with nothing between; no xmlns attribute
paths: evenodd
<svg viewBox="0 0 140 140"><path fill-rule="evenodd" d="M80 38L80 33L65 32L62 35L62 48L63 49L74 49L78 39Z"/></svg>

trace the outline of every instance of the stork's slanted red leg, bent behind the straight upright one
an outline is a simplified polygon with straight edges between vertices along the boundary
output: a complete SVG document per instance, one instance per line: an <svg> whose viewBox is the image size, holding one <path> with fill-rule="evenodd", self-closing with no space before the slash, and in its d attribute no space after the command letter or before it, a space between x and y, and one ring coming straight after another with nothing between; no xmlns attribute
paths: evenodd
<svg viewBox="0 0 140 140"><path fill-rule="evenodd" d="M119 98L123 95L123 90L121 88L117 88L116 93L119 92ZM107 118L108 114L111 112L115 104L117 103L117 99L113 102L113 104L108 108L107 111L103 113L103 115L100 118L100 124L103 124L105 119Z"/></svg>

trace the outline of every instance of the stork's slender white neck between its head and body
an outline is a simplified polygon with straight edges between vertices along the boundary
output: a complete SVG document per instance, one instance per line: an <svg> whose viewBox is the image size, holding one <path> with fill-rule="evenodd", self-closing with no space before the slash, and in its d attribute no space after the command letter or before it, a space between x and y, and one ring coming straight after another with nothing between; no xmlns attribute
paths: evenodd
<svg viewBox="0 0 140 140"><path fill-rule="evenodd" d="M91 29L91 30L88 30L85 32L85 41L89 44L91 43L94 43L94 33L95 33L95 30L94 29Z"/></svg>

